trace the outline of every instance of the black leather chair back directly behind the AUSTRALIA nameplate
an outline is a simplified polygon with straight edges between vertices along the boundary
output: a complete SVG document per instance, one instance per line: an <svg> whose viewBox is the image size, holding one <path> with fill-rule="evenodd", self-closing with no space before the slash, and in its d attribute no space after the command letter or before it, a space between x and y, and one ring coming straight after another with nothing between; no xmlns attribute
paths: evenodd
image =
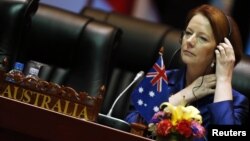
<svg viewBox="0 0 250 141"><path fill-rule="evenodd" d="M106 86L119 36L114 26L40 4L17 59L41 67L41 79L94 96Z"/></svg>

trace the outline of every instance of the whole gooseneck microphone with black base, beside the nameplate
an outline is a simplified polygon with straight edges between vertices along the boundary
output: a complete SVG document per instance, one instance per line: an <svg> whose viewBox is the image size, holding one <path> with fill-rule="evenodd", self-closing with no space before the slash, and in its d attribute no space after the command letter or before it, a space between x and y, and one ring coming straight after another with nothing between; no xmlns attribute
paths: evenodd
<svg viewBox="0 0 250 141"><path fill-rule="evenodd" d="M118 100L124 95L124 93L139 79L141 78L142 76L144 75L144 72L143 71L140 71L136 74L134 80L119 94L119 96L115 99L114 103L112 104L109 112L107 115L104 115L104 114L101 114L99 113L98 114L98 123L101 123L101 124L104 124L104 125L107 125L109 127L113 127L113 128L116 128L116 129L120 129L120 130L123 130L123 131L127 131L127 132L130 132L130 124L127 123L126 121L124 120L121 120L121 119L118 119L118 118L115 118L115 117L111 117L111 114L113 112L113 109L116 105L116 103L118 102Z"/></svg>

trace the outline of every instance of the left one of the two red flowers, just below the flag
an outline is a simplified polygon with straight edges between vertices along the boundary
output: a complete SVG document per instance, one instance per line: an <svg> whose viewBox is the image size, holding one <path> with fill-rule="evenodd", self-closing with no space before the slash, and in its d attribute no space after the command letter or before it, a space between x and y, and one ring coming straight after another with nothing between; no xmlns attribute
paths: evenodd
<svg viewBox="0 0 250 141"><path fill-rule="evenodd" d="M166 136L171 132L171 128L173 127L172 123L170 120L165 119L161 120L157 125L156 125L156 133L159 136Z"/></svg>

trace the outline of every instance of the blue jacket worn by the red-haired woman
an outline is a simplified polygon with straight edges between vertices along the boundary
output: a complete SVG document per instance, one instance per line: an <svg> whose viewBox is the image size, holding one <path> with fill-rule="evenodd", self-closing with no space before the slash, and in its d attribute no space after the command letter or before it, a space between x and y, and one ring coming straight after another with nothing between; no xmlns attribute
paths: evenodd
<svg viewBox="0 0 250 141"><path fill-rule="evenodd" d="M169 70L167 76L170 93L175 94L185 88L185 69ZM211 124L241 125L247 120L248 98L240 92L233 90L233 100L213 103L213 98L214 95L209 95L191 103L200 110L205 128ZM138 111L133 110L125 120L129 123L137 122L138 116Z"/></svg>

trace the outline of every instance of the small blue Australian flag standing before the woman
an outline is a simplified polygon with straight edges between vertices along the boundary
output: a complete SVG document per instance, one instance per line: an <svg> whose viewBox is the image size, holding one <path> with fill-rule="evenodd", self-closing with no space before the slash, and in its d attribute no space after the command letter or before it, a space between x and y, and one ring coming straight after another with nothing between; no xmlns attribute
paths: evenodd
<svg viewBox="0 0 250 141"><path fill-rule="evenodd" d="M168 78L162 54L148 71L146 77L132 92L132 102L135 108L149 122L154 113L159 111L159 105L168 99Z"/></svg>

